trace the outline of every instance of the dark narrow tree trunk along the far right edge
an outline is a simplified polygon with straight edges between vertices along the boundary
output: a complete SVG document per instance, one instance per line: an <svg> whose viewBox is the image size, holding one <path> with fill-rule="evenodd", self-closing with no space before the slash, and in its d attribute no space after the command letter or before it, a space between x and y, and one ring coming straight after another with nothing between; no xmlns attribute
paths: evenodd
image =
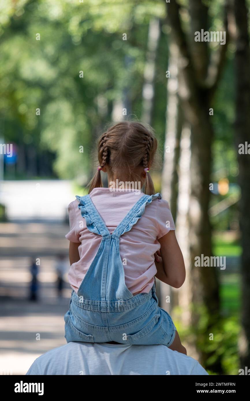
<svg viewBox="0 0 250 401"><path fill-rule="evenodd" d="M248 7L245 0L234 0L236 22L236 146L250 144L250 47ZM241 187L240 228L242 233L242 334L239 348L241 368L250 366L250 155L239 154Z"/></svg>

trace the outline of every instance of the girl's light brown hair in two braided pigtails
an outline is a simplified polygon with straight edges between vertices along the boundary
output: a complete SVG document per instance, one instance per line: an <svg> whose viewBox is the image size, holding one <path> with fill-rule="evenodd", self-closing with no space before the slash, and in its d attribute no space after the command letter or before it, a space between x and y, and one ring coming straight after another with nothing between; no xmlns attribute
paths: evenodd
<svg viewBox="0 0 250 401"><path fill-rule="evenodd" d="M157 139L150 126L139 122L122 121L108 128L98 139L98 160L100 167L107 167L111 177L120 180L138 180L134 169L138 166L148 168L152 165L157 150ZM89 182L89 192L102 187L100 170L97 170ZM145 194L154 194L154 184L146 173Z"/></svg>

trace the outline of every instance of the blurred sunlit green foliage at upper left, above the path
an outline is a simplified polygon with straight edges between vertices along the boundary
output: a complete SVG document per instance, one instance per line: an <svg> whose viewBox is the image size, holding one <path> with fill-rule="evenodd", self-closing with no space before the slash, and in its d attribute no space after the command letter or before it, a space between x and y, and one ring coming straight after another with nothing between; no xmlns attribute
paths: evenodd
<svg viewBox="0 0 250 401"><path fill-rule="evenodd" d="M165 5L100 0L22 0L11 7L8 1L3 3L0 119L4 140L18 145L28 142L37 153L54 154L57 176L86 183L96 136L112 118L110 103L124 96L126 88L140 117L138 94L148 22L154 15L164 17ZM162 117L163 111L163 138Z"/></svg>

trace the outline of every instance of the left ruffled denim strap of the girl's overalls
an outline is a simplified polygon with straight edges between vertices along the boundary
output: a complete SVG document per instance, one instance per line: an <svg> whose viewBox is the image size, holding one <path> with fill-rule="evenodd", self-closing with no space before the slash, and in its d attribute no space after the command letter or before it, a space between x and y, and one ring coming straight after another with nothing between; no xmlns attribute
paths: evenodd
<svg viewBox="0 0 250 401"><path fill-rule="evenodd" d="M96 210L93 202L89 195L85 196L75 196L79 201L78 209L81 211L82 217L84 217L87 229L92 233L96 233L102 235L102 237L106 237L110 235L102 217L99 215Z"/></svg>

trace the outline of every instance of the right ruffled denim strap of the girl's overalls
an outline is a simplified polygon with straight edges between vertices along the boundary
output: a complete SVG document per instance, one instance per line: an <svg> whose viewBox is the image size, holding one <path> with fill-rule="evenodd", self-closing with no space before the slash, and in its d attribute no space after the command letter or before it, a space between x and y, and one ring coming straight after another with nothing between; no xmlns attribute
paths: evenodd
<svg viewBox="0 0 250 401"><path fill-rule="evenodd" d="M112 236L120 237L122 234L130 231L140 219L145 211L146 205L151 203L154 199L161 199L161 194L157 193L155 195L143 195L138 201L134 204L132 209L127 213L127 215L122 219L120 224L116 227Z"/></svg>

